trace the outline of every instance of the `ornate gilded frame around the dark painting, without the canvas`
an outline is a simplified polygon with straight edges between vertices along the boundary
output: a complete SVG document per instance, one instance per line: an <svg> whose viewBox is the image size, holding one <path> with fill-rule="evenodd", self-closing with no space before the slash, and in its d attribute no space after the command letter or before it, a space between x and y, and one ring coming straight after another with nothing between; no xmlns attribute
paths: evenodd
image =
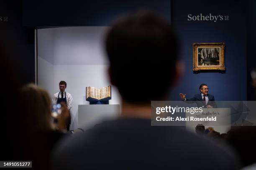
<svg viewBox="0 0 256 170"><path fill-rule="evenodd" d="M198 48L220 48L219 65L198 65ZM193 71L200 70L225 70L225 57L224 57L225 44L220 43L193 43ZM216 60L215 60L216 61Z"/></svg>

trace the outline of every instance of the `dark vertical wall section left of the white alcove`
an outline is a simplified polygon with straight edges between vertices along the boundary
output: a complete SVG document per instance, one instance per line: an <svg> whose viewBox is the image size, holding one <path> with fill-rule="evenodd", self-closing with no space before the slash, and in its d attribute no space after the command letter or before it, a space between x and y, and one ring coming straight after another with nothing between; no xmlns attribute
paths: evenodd
<svg viewBox="0 0 256 170"><path fill-rule="evenodd" d="M22 0L1 2L0 16L8 17L0 22L0 48L15 70L13 78L20 77L22 84L35 82L35 33L22 25Z"/></svg>

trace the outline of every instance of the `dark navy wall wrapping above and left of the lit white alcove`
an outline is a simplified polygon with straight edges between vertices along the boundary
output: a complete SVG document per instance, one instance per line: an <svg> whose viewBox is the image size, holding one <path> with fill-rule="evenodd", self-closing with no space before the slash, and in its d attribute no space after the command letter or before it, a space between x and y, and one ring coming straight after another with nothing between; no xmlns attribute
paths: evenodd
<svg viewBox="0 0 256 170"><path fill-rule="evenodd" d="M145 7L170 21L170 0L8 0L1 2L0 48L7 51L22 83L35 82L34 28L109 25L118 15ZM2 49L3 48L3 49Z"/></svg>

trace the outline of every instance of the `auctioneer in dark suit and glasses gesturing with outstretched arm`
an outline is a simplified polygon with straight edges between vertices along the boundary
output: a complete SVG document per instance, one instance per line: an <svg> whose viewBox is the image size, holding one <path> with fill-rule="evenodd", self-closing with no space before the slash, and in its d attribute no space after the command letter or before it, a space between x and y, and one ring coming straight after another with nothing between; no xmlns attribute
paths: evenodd
<svg viewBox="0 0 256 170"><path fill-rule="evenodd" d="M204 100L204 97L205 97L205 100ZM192 102L201 101L201 102L196 102L197 106L200 106L200 107L204 106L205 108L207 107L207 105L211 105L212 107L217 107L214 100L214 96L210 94L204 96L202 93L199 93L194 95L194 97L192 98L189 98L189 99L186 98L184 101L187 101L188 103L191 103L189 101L192 101Z"/></svg>

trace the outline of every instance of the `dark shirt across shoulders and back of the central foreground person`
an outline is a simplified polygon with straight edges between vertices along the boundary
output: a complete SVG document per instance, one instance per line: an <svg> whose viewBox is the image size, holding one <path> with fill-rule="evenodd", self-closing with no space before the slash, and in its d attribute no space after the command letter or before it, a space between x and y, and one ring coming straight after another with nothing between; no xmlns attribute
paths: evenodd
<svg viewBox="0 0 256 170"><path fill-rule="evenodd" d="M151 126L151 120L145 119L103 122L85 134L63 141L54 153L54 169L159 169L168 166L173 169L237 169L236 159L229 150L179 127Z"/></svg>

